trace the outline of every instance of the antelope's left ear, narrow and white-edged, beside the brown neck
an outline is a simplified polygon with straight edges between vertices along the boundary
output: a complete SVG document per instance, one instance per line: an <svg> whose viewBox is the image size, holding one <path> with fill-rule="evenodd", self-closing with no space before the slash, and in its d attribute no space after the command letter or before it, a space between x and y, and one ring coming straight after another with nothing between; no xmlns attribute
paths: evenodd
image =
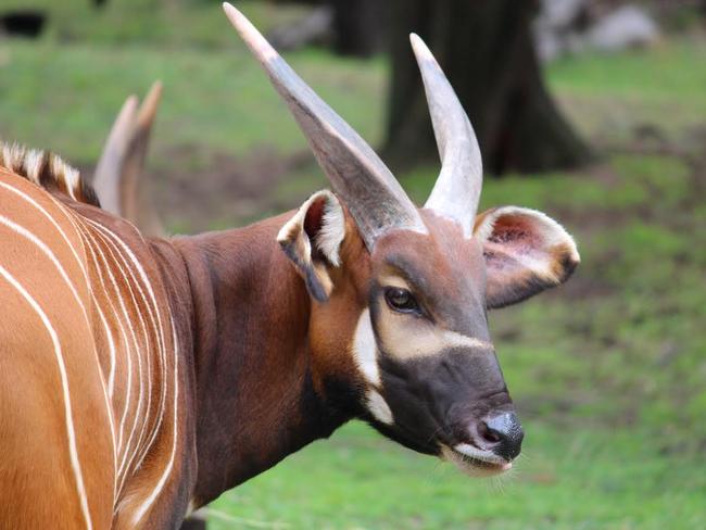
<svg viewBox="0 0 706 530"><path fill-rule="evenodd" d="M326 302L333 289L328 267L341 264L339 249L344 236L343 209L327 190L310 197L277 235L277 242L318 302Z"/></svg>

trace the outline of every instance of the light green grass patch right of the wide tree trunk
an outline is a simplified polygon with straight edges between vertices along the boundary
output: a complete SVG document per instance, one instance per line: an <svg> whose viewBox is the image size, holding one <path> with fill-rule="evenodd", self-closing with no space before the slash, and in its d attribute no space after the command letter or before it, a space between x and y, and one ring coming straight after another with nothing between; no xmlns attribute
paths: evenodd
<svg viewBox="0 0 706 530"><path fill-rule="evenodd" d="M703 39L666 40L641 50L570 59L549 71L564 110L587 135L626 141L635 127L690 142L706 116L706 55Z"/></svg>

